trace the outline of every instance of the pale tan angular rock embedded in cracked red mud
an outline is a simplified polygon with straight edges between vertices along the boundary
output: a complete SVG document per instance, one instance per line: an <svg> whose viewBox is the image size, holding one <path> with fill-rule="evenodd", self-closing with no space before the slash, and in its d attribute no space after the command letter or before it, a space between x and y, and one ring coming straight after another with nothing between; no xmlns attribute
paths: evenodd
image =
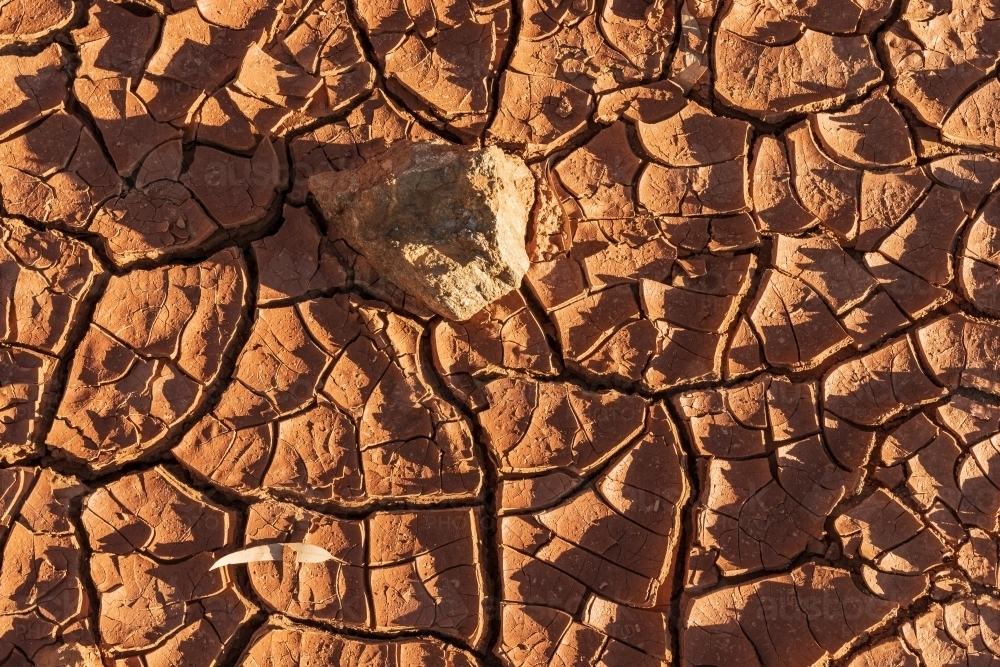
<svg viewBox="0 0 1000 667"><path fill-rule="evenodd" d="M499 148L401 143L355 171L314 176L309 189L331 235L449 319L469 319L528 270L534 182Z"/></svg>

